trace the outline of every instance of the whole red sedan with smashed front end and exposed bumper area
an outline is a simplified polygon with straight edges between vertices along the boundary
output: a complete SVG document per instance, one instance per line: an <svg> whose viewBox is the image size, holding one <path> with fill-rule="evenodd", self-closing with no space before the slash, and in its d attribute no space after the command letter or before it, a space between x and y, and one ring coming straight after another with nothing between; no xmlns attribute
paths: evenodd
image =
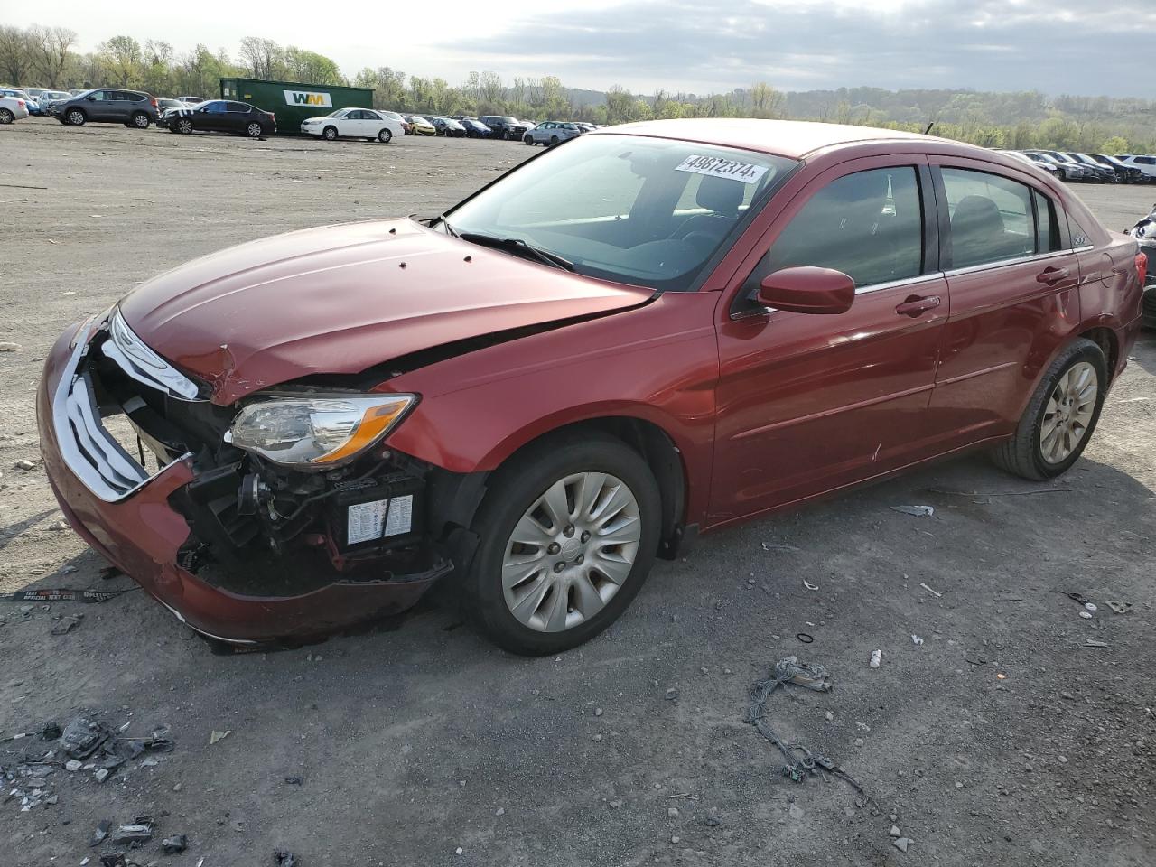
<svg viewBox="0 0 1156 867"><path fill-rule="evenodd" d="M520 653L699 533L1088 443L1146 260L1022 162L827 124L620 126L446 214L146 282L45 365L72 525L194 629L296 643L452 580Z"/></svg>

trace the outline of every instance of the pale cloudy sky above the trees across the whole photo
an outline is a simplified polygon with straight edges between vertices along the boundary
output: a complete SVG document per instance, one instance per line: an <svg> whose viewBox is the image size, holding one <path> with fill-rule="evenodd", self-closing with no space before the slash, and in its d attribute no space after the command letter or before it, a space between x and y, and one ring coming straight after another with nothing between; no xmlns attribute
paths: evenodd
<svg viewBox="0 0 1156 867"><path fill-rule="evenodd" d="M768 81L1156 97L1156 10L1140 0L0 0L0 22L69 27L84 51L126 34L235 54L265 36L350 76L392 66L451 84L492 69L644 94Z"/></svg>

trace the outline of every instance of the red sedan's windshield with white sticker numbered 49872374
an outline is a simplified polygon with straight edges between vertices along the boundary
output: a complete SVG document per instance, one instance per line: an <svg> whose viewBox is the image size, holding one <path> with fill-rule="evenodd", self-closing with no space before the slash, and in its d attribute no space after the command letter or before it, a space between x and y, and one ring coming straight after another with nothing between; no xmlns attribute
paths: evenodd
<svg viewBox="0 0 1156 867"><path fill-rule="evenodd" d="M578 274L684 291L796 163L635 135L572 139L447 214L459 235L514 238Z"/></svg>

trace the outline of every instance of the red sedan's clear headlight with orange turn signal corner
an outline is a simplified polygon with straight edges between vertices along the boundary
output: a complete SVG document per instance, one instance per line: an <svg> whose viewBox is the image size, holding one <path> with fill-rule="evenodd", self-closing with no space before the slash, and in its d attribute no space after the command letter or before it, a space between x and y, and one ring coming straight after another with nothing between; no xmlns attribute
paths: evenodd
<svg viewBox="0 0 1156 867"><path fill-rule="evenodd" d="M237 414L229 442L281 466L327 469L380 440L416 401L413 394L271 397Z"/></svg>

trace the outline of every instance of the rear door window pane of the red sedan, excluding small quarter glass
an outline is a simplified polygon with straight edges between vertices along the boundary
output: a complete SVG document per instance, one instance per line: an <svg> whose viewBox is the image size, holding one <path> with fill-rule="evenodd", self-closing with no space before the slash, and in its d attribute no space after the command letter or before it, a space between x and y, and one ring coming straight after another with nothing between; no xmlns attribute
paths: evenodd
<svg viewBox="0 0 1156 867"><path fill-rule="evenodd" d="M950 217L950 267L1020 259L1037 252L1031 187L969 169L942 169Z"/></svg>

